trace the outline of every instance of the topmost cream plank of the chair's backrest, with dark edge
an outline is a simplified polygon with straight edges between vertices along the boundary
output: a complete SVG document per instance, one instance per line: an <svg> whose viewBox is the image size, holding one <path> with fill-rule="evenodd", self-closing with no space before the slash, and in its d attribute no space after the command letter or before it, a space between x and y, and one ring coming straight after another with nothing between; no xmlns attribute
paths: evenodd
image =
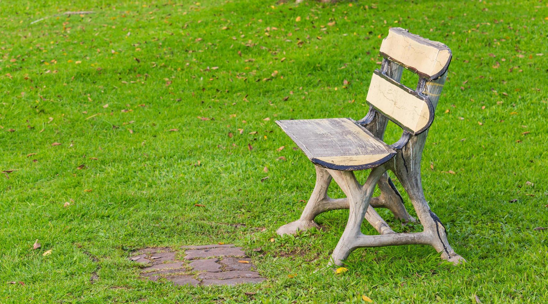
<svg viewBox="0 0 548 304"><path fill-rule="evenodd" d="M429 79L443 75L452 56L447 45L409 33L401 27L390 28L380 46L380 53Z"/></svg>

